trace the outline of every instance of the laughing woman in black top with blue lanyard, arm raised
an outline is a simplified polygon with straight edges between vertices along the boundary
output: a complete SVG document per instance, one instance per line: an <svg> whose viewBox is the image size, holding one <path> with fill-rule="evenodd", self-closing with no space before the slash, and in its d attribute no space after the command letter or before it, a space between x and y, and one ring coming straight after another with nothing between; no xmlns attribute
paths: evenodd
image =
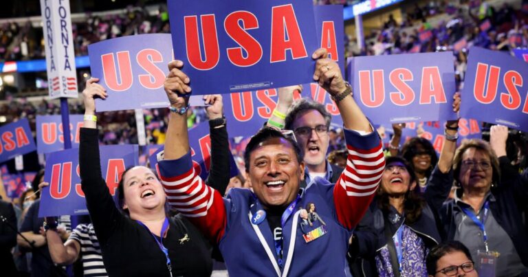
<svg viewBox="0 0 528 277"><path fill-rule="evenodd" d="M125 170L115 205L101 176L95 97L107 93L87 80L85 123L80 129L81 188L110 276L210 276L210 248L187 219L167 217L162 184L144 166ZM175 192L168 192L175 197Z"/></svg>

